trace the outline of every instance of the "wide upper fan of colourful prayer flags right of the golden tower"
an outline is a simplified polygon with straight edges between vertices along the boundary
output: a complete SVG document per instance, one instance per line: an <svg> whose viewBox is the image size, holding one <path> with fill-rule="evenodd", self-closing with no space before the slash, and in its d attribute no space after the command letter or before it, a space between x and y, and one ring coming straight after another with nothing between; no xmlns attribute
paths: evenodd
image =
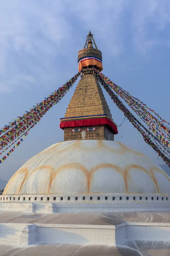
<svg viewBox="0 0 170 256"><path fill-rule="evenodd" d="M123 90L113 81L108 79L102 73L96 70L98 75L105 81L105 83L114 90L129 106L130 108L142 119L142 121L149 127L149 130L163 143L168 151L170 149L170 123L162 119L155 111L147 107L139 99L133 97L127 91ZM156 116L154 116L152 113Z"/></svg>

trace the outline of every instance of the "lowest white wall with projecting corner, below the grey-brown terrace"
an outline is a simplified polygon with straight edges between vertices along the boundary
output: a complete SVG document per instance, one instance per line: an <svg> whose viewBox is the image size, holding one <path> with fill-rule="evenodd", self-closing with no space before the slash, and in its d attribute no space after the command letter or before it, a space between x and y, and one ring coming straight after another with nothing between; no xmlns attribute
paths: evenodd
<svg viewBox="0 0 170 256"><path fill-rule="evenodd" d="M170 241L168 223L122 223L119 225L36 224L36 243L123 244L127 240ZM28 233L29 235L29 233ZM33 234L31 233L31 237ZM31 241L31 240L29 240Z"/></svg>

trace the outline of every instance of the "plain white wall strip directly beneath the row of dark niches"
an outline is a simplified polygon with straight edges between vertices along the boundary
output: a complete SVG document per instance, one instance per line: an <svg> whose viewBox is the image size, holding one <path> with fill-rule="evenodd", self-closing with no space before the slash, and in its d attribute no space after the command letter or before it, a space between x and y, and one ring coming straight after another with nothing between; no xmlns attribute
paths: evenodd
<svg viewBox="0 0 170 256"><path fill-rule="evenodd" d="M149 210L149 209L170 209L170 202L167 201L147 201L147 202L130 202L130 201L115 201L115 202L97 202L97 201L68 201L56 203L22 203L13 202L0 203L0 209L3 211L25 211L25 212L40 212L40 213L54 213L54 212L113 212L119 210L134 211L134 210Z"/></svg>

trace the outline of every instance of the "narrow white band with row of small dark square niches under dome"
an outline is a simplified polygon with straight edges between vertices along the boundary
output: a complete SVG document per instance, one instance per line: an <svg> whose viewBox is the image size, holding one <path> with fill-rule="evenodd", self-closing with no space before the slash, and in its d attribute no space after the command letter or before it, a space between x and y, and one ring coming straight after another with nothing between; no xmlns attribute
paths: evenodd
<svg viewBox="0 0 170 256"><path fill-rule="evenodd" d="M68 200L68 197L70 200ZM76 200L77 197L77 200ZM83 197L85 197L85 200L83 200ZM98 200L98 197L100 198ZM114 197L114 200L113 200ZM129 198L127 200L127 197ZM15 199L14 199L15 198ZM54 200L55 198L55 200ZM61 200L62 198L62 200ZM91 200L92 198L92 200ZM107 200L106 200L107 198ZM121 199L122 198L122 199ZM135 198L135 199L134 199ZM141 199L140 199L141 198ZM153 198L153 200L152 200ZM158 199L157 199L158 198ZM163 198L163 200L162 200ZM8 203L16 203L16 202L35 202L35 203L43 203L43 202L88 202L90 201L91 203L93 202L139 202L139 203L148 203L148 202L170 202L170 194L151 194L151 193L142 193L142 194L136 194L136 193L110 193L110 194L105 194L105 193L95 193L95 194L9 194L9 195L0 195L0 203L3 202L8 202Z"/></svg>

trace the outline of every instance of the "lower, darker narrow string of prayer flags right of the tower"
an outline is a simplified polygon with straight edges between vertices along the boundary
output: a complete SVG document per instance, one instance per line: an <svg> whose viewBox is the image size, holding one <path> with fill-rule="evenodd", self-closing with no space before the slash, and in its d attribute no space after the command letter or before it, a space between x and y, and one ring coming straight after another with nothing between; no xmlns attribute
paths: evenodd
<svg viewBox="0 0 170 256"><path fill-rule="evenodd" d="M104 76L104 75L103 75ZM97 71L97 79L99 80L100 84L105 88L108 92L109 96L116 104L116 106L124 113L127 119L133 124L133 126L142 134L144 141L150 145L164 160L167 166L170 167L170 155L168 154L169 151L167 150L167 146L164 145L160 138L152 134L138 119L126 108L126 106L121 102L121 100L116 96L116 94L111 90L110 85L105 81L104 77L101 76L101 73ZM168 156L168 157L167 157Z"/></svg>

